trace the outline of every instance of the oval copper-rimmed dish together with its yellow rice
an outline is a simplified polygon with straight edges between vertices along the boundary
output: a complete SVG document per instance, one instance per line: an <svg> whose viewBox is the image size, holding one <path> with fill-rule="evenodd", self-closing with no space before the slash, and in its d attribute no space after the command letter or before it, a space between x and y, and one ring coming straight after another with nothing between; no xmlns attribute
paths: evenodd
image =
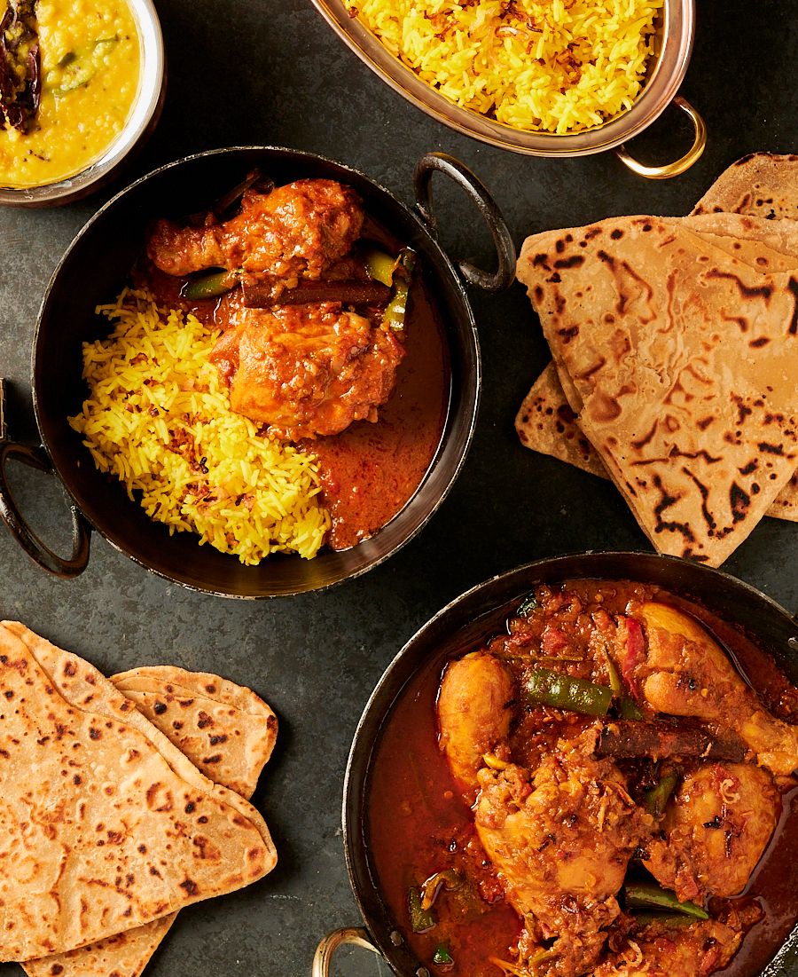
<svg viewBox="0 0 798 977"><path fill-rule="evenodd" d="M674 100L693 50L693 0L313 2L408 102L531 155L631 139Z"/></svg>

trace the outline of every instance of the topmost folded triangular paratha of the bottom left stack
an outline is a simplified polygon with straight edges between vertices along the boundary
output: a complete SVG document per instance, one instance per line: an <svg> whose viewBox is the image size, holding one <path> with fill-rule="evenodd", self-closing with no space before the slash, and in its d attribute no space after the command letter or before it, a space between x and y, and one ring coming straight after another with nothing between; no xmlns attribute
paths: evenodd
<svg viewBox="0 0 798 977"><path fill-rule="evenodd" d="M93 665L0 625L0 959L96 943L271 871L269 829Z"/></svg>

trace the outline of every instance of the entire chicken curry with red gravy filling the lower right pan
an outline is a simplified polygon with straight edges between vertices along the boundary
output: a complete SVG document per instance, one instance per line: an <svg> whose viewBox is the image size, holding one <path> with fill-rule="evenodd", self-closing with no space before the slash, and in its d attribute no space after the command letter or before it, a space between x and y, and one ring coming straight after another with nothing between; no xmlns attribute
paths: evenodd
<svg viewBox="0 0 798 977"><path fill-rule="evenodd" d="M757 974L798 918L797 721L773 659L698 605L538 586L395 706L367 800L383 896L431 973Z"/></svg>

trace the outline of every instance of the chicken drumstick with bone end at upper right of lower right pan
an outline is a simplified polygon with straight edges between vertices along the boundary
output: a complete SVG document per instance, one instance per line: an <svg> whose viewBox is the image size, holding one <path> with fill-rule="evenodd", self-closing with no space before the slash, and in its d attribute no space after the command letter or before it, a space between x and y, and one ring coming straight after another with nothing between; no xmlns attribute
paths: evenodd
<svg viewBox="0 0 798 977"><path fill-rule="evenodd" d="M727 726L756 753L760 766L777 775L792 773L798 767L798 727L768 712L700 624L655 602L643 604L640 615L648 651L635 672L646 701L659 712Z"/></svg>

